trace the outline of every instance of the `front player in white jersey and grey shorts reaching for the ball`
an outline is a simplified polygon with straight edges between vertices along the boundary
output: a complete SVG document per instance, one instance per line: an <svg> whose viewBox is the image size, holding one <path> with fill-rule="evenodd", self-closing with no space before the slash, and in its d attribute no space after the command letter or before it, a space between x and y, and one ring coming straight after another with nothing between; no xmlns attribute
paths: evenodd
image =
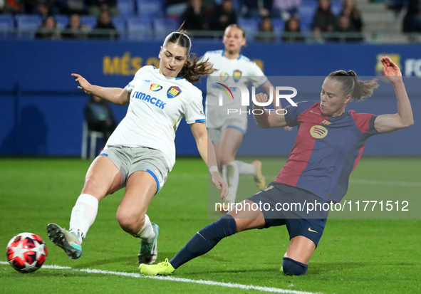
<svg viewBox="0 0 421 294"><path fill-rule="evenodd" d="M63 248L70 259L82 254L80 245L95 221L98 201L126 187L117 211L118 223L124 231L141 239L138 262L155 262L159 227L150 222L146 211L175 164L175 131L182 117L191 127L212 182L222 190L222 198L227 196L227 183L219 176L207 136L202 92L192 85L199 75L214 69L211 63L200 62L196 57L188 61L191 46L186 34L170 33L158 56L160 68L140 68L124 89L91 85L81 75L72 74L85 93L117 105L130 105L105 149L88 169L85 185L72 209L69 231L53 223L47 226L51 241Z"/></svg>

